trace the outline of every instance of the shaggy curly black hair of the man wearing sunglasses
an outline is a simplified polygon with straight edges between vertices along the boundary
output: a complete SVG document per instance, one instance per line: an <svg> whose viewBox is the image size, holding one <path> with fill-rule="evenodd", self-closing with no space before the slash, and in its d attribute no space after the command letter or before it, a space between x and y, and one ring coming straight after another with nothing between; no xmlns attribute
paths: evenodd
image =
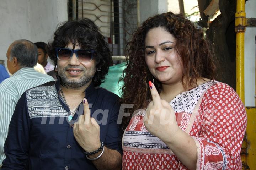
<svg viewBox="0 0 256 170"><path fill-rule="evenodd" d="M111 52L108 43L104 40L105 37L99 32L98 27L90 19L84 18L75 21L66 21L60 23L57 27L53 40L48 42L47 52L50 59L57 65L57 56L55 48L65 48L69 43L79 45L80 49L96 50L96 71L92 82L94 86L99 86L105 81L105 75L108 73L108 68L111 62ZM57 75L58 77L58 75Z"/></svg>

